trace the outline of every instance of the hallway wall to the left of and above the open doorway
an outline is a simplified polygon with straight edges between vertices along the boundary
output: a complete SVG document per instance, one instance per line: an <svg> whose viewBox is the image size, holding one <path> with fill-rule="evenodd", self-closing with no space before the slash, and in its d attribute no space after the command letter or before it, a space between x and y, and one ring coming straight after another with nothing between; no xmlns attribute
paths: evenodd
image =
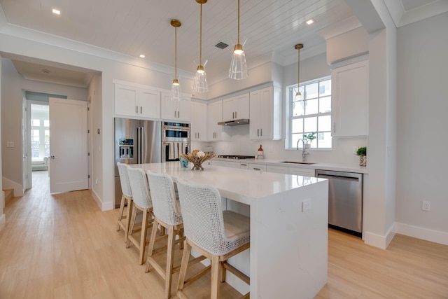
<svg viewBox="0 0 448 299"><path fill-rule="evenodd" d="M87 100L85 88L29 81L20 76L8 58L2 58L1 149L3 178L22 185L22 90L66 95L69 99ZM13 148L6 148L13 141Z"/></svg>

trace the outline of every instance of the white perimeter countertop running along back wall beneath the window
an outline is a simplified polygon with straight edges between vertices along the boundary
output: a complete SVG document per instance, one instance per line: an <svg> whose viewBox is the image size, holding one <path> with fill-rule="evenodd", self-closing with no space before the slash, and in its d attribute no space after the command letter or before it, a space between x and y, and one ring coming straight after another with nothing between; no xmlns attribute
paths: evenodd
<svg viewBox="0 0 448 299"><path fill-rule="evenodd" d="M358 174L368 174L367 167L359 166L359 165L342 165L342 164L332 164L332 163L319 163L313 162L314 164L300 164L300 163L284 163L283 160L271 160L271 159L242 159L242 160L234 160L234 159L225 159L225 158L214 158L214 160L219 161L227 161L227 162L242 162L242 163L256 163L262 165L274 165L274 166L283 166L283 167L296 167L296 168L305 168L305 169L324 169L324 170L333 170L335 172L356 172ZM300 162L300 160L290 159L288 161Z"/></svg>

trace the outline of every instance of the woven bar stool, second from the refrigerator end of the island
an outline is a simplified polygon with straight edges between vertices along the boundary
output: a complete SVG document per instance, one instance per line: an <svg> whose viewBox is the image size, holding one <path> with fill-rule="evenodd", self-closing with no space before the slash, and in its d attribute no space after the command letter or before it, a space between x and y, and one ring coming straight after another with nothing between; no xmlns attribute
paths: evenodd
<svg viewBox="0 0 448 299"><path fill-rule="evenodd" d="M141 168L127 167L127 173L129 174L129 182L132 190L132 207L128 207L128 209L132 208L132 216L129 227L130 234L128 236L126 246L129 247L132 242L132 244L137 247L139 250L139 263L141 265L144 262L145 247L147 244L146 235L148 234L148 228L151 228L153 223L153 202L151 201L151 196L149 195L148 179L146 179L144 170ZM139 241L132 234L137 209L143 212Z"/></svg>

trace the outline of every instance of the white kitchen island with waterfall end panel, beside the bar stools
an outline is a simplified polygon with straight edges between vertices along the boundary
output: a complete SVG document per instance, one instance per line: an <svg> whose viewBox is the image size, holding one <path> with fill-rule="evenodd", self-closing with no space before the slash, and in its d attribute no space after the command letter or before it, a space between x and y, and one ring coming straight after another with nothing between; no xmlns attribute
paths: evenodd
<svg viewBox="0 0 448 299"><path fill-rule="evenodd" d="M181 178L215 186L222 197L248 205L251 298L313 298L326 284L326 179L213 165L193 171L179 162L130 166L169 174L174 183Z"/></svg>

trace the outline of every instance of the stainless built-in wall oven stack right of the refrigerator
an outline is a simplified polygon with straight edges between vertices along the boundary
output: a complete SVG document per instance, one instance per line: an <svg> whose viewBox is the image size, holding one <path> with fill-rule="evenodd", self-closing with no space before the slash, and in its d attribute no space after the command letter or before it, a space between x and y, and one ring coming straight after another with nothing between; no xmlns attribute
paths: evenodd
<svg viewBox="0 0 448 299"><path fill-rule="evenodd" d="M179 154L190 152L190 124L162 123L162 162L179 161Z"/></svg>

